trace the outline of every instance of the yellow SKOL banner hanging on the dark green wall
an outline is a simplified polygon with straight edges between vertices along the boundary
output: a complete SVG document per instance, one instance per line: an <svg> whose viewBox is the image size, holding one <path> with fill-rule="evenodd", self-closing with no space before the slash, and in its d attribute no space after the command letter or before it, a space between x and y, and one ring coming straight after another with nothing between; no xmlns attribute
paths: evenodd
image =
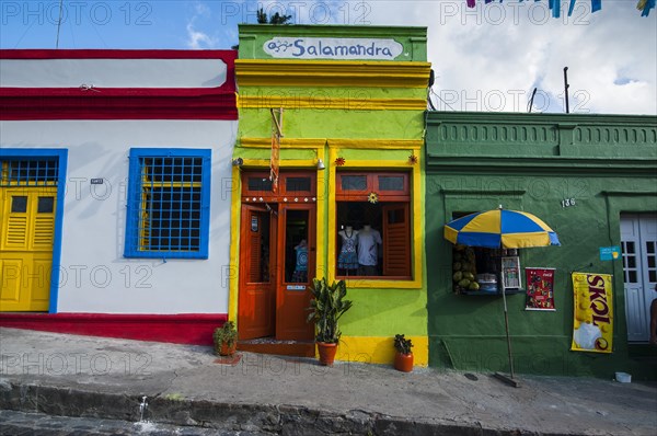
<svg viewBox="0 0 657 436"><path fill-rule="evenodd" d="M573 273L575 322L572 351L611 353L612 277L610 274Z"/></svg>

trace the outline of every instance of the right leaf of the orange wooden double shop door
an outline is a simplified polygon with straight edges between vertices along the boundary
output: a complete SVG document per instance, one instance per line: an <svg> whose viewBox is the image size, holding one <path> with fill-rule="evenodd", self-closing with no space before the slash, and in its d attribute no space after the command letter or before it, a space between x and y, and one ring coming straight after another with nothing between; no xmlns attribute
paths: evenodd
<svg viewBox="0 0 657 436"><path fill-rule="evenodd" d="M278 259L276 339L311 341L314 324L306 320L315 271L314 204L279 205Z"/></svg>

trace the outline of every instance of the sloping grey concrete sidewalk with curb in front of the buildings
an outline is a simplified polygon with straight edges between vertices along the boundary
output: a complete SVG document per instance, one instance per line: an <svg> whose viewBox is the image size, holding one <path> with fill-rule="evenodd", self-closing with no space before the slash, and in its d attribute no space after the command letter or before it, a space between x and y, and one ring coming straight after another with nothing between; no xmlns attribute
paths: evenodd
<svg viewBox="0 0 657 436"><path fill-rule="evenodd" d="M487 374L251 353L222 365L210 347L15 329L0 329L0 353L4 410L286 435L657 433L655 383L520 375L516 389Z"/></svg>

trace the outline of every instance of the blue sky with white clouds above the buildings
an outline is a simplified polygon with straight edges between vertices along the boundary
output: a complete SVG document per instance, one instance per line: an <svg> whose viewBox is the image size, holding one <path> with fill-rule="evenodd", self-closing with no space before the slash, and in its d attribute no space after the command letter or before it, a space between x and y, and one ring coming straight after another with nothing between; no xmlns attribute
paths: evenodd
<svg viewBox="0 0 657 436"><path fill-rule="evenodd" d="M1 48L230 48L238 23L255 12L292 15L298 24L428 27L428 60L441 111L570 111L657 114L657 11L637 0L577 0L554 19L549 1L10 1L1 7ZM58 22L61 11L61 25ZM57 41L59 39L59 41Z"/></svg>

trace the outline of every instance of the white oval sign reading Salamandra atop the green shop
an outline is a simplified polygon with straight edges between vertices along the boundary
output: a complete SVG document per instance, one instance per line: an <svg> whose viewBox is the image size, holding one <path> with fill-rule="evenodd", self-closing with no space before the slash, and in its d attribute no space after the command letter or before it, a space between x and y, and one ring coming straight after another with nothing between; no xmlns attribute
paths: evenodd
<svg viewBox="0 0 657 436"><path fill-rule="evenodd" d="M266 41L263 49L281 59L394 60L404 47L394 39L277 36Z"/></svg>

